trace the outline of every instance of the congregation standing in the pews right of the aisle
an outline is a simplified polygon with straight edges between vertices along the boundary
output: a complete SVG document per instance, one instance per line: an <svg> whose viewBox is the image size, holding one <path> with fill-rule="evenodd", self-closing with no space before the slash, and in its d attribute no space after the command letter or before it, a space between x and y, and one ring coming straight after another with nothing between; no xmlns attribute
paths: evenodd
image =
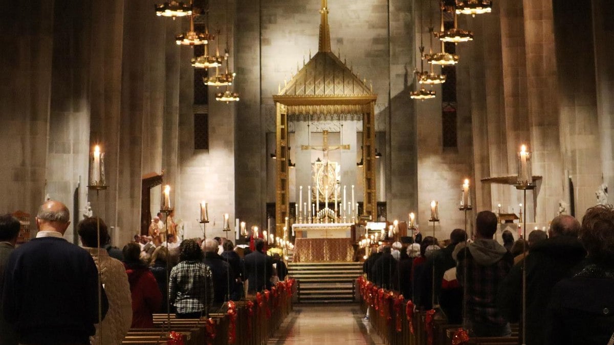
<svg viewBox="0 0 614 345"><path fill-rule="evenodd" d="M470 337L497 337L511 336L510 324L523 325L526 269L526 344L614 341L612 206L591 207L581 223L559 215L547 233L530 231L526 241L503 231L500 244L499 219L490 211L479 212L475 225L474 238L454 229L444 241L419 231L402 242L384 241L363 271L418 310L434 308L445 323L464 325Z"/></svg>

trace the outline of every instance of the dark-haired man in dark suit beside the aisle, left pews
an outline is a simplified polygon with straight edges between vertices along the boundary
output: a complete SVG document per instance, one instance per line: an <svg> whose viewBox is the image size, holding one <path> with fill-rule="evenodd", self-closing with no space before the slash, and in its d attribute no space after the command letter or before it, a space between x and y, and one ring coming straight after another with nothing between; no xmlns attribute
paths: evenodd
<svg viewBox="0 0 614 345"><path fill-rule="evenodd" d="M257 238L254 241L255 251L243 258L245 277L249 282L247 293L261 292L271 288L273 276L273 258L263 253L265 241Z"/></svg>

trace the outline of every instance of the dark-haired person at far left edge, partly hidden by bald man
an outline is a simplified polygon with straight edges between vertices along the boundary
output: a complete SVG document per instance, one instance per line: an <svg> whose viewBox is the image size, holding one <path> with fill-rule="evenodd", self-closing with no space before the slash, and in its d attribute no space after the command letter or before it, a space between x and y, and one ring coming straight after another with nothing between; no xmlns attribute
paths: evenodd
<svg viewBox="0 0 614 345"><path fill-rule="evenodd" d="M17 236L21 224L17 218L10 214L0 215L0 297L2 296L2 287L4 287L4 268L9 255L15 250L17 244ZM0 311L2 310L2 301L0 300ZM0 312L0 339L2 344L17 345L17 333L12 325L4 320L4 316Z"/></svg>

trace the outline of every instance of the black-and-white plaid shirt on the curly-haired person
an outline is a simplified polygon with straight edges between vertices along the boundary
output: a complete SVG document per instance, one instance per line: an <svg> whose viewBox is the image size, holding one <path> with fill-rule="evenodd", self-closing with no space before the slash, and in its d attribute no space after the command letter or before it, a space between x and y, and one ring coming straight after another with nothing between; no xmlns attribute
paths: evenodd
<svg viewBox="0 0 614 345"><path fill-rule="evenodd" d="M177 313L200 312L213 303L211 268L200 261L184 261L174 266L169 277L171 304Z"/></svg>

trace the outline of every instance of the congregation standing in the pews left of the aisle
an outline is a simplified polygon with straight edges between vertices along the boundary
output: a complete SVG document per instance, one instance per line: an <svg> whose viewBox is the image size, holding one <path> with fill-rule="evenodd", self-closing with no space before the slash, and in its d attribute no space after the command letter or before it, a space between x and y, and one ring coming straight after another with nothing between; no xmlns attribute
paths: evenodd
<svg viewBox="0 0 614 345"><path fill-rule="evenodd" d="M131 328L152 328L154 313L208 316L287 274L262 239L241 257L228 240L160 231L169 229L160 214L123 249L111 246L103 219L76 225L82 246L63 238L70 223L63 203L47 201L36 238L16 246L20 222L0 215L1 344L120 344Z"/></svg>

